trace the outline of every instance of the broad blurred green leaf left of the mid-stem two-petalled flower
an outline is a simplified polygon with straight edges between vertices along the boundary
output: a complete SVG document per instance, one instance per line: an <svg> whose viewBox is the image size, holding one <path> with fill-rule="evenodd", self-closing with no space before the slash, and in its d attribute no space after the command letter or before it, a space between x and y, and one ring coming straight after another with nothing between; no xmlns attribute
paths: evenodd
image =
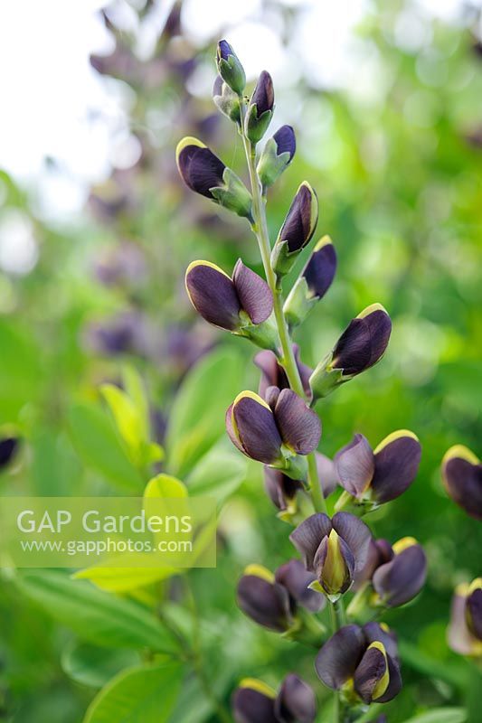
<svg viewBox="0 0 482 723"><path fill-rule="evenodd" d="M239 391L241 357L222 349L190 371L179 390L167 429L168 468L183 477L224 434L224 415Z"/></svg>

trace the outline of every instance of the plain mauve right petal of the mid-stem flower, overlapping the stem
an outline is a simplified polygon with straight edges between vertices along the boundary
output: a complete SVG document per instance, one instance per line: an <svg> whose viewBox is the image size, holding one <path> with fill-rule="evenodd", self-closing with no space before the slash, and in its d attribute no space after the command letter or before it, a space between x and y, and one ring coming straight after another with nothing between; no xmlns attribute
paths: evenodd
<svg viewBox="0 0 482 723"><path fill-rule="evenodd" d="M283 442L298 455L308 455L317 448L321 422L317 413L294 391L281 391L275 417Z"/></svg>

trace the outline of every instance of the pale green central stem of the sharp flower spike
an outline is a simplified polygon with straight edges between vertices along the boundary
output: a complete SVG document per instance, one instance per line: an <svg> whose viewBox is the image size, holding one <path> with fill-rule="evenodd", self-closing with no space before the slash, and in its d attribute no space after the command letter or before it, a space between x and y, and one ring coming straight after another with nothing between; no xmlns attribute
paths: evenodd
<svg viewBox="0 0 482 723"><path fill-rule="evenodd" d="M266 209L263 201L262 187L260 178L256 171L256 149L255 146L250 143L250 140L244 135L242 130L244 114L244 104L241 103L240 133L250 174L252 215L254 219L251 229L258 239L264 273L273 295L273 310L276 324L278 326L279 342L281 343L281 358L279 359L279 362L286 371L291 389L295 391L299 397L305 399L305 390L303 389L303 383L299 375L298 364L293 352L293 344L291 343L289 336L288 324L283 312L283 292L277 283L276 274L271 267L271 245L269 243L269 231L268 223L266 221ZM307 455L307 465L309 492L311 494L313 506L315 507L316 512L327 512L325 497L318 478L317 458L314 452Z"/></svg>

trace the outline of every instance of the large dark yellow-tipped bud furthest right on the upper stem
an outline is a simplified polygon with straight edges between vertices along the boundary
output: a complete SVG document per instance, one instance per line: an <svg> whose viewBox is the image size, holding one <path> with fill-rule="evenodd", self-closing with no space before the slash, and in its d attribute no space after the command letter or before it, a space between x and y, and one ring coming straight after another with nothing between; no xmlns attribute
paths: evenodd
<svg viewBox="0 0 482 723"><path fill-rule="evenodd" d="M382 358L391 332L392 321L383 306L367 306L338 339L330 367L343 370L344 377L370 369Z"/></svg>

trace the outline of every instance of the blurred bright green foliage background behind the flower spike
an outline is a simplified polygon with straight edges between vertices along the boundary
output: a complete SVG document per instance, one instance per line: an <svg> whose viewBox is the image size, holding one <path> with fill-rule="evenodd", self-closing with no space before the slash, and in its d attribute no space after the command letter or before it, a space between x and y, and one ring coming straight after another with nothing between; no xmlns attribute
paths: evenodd
<svg viewBox="0 0 482 723"><path fill-rule="evenodd" d="M282 89L278 104L285 115L294 108L298 154L269 194L274 237L298 183L307 178L320 199L318 234L329 233L338 253L335 285L298 332L304 362L315 365L365 305L379 301L392 315L383 362L318 408L324 428L320 450L334 455L355 431L373 446L397 428L409 428L421 439L415 484L373 515L378 536L393 541L412 535L430 560L420 598L386 616L404 641L405 686L387 707L391 723L464 702L469 668L449 651L446 627L453 588L481 573L482 542L480 525L449 501L439 477L449 446L482 451L482 176L476 137L482 64L469 28L439 21L430 23L422 51L397 47L393 29L402 9L410 8L408 2L379 3L359 28L383 68L383 77L372 79L373 86L383 86L373 99L313 89L307 80ZM289 31L293 17L288 14L284 22ZM118 36L118 42L130 52L128 37ZM183 52L188 57L194 49L186 46ZM213 44L195 53L198 61L212 63ZM293 549L288 527L265 497L258 466L244 467L224 438L223 413L233 396L257 389L258 371L250 363L255 350L206 328L184 294L184 269L194 258L230 269L241 256L261 270L247 225L188 197L175 174L175 144L184 133L203 137L209 128L207 140L243 174L241 146L227 120L214 130L205 122L213 114L211 100L184 90L166 34L156 60L163 72L155 83L144 81L148 62L137 61L138 72L124 79L137 92L131 121L144 154L134 169L92 190L90 209L97 214L67 228L46 225L29 196L0 174L0 213L25 214L40 245L31 273L0 275L0 425L5 435L22 440L13 464L1 474L2 494L142 493L146 470L129 458L99 395L99 384L118 380L129 362L142 375L152 408L167 419L165 471L189 484L200 460L206 480L216 465L232 470L234 484L219 481L227 485L220 495L231 496L222 505L218 568L188 576L201 620L203 664L216 694L228 701L241 677L277 686L296 670L314 684L324 711L329 697L316 680L311 651L255 627L235 606L235 581L246 564L275 568ZM162 131L149 128L153 110L165 114ZM99 202L123 193L122 211L109 219L105 209L99 215ZM112 252L126 239L146 258L145 272L102 286L92 268L106 249ZM110 324L126 311L142 319L137 326L142 325L144 342L115 356L93 349L86 341L89 324ZM173 339L181 333L183 345L175 347ZM189 371L200 350L208 355ZM136 615L149 615L141 627L145 636L156 622L156 599L164 599L165 615L189 632L192 608L184 583L178 578L156 583L146 596L102 593L100 602L96 587L70 580L68 571L29 577L3 570L0 719L76 723L99 687L126 669L134 671L128 685L135 694L150 695L148 675L136 672L146 662L148 641L136 637L137 628L126 633L134 644L119 641L102 621L92 622L87 608L102 609L108 595L135 606ZM64 606L65 598L73 600L72 608ZM160 718L157 707L133 720L218 719L198 681L187 673L183 679L184 669L166 655L156 665L165 666L165 690L176 690L183 680L177 708L167 710L167 718ZM158 678L153 680L156 688ZM109 709L96 715L86 720L118 719Z"/></svg>

